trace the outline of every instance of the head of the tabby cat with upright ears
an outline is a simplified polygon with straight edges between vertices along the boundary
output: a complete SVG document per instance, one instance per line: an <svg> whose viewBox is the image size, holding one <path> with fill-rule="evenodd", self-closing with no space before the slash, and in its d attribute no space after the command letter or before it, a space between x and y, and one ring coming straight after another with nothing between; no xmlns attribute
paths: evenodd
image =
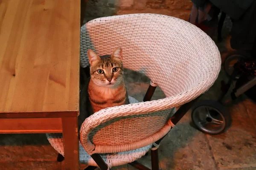
<svg viewBox="0 0 256 170"><path fill-rule="evenodd" d="M115 88L123 83L122 48L116 48L111 55L99 56L91 49L87 54L91 80L96 85Z"/></svg>

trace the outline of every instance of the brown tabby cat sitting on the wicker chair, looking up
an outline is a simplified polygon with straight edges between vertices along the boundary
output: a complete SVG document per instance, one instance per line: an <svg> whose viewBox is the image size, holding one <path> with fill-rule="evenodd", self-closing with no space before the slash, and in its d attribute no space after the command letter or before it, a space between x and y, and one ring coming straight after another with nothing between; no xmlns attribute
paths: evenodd
<svg viewBox="0 0 256 170"><path fill-rule="evenodd" d="M129 104L123 77L122 48L111 55L97 55L89 49L90 77L80 93L79 129L88 116L102 109Z"/></svg>

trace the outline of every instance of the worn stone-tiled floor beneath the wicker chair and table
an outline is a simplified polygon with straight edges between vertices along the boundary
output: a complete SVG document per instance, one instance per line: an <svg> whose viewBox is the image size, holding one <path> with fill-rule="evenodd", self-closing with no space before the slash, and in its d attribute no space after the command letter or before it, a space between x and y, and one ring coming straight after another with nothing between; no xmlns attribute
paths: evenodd
<svg viewBox="0 0 256 170"><path fill-rule="evenodd" d="M228 41L228 40L227 40ZM227 53L225 42L218 44L222 56ZM142 101L149 80L143 75L126 72L128 94ZM202 99L217 99L221 71L215 85ZM157 88L153 99L165 97ZM256 170L256 104L245 96L228 106L232 126L221 135L207 135L191 121L190 111L171 130L160 144L159 158L162 170ZM0 170L61 170L64 163L56 161L57 152L44 134L1 134ZM150 154L139 162L151 167ZM134 170L130 165L113 170Z"/></svg>

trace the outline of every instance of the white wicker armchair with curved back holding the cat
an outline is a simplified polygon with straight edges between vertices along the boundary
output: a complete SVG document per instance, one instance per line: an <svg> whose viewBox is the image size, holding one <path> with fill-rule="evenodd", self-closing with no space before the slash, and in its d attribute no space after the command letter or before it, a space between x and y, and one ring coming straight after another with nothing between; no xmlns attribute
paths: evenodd
<svg viewBox="0 0 256 170"><path fill-rule="evenodd" d="M145 100L150 100L156 85L166 98L139 103L130 98L132 104L106 108L85 119L80 130L80 161L102 170L139 159L152 144L151 156L157 157L160 140L189 108L181 107L172 118L171 109L207 91L221 68L218 48L207 34L184 20L159 14L88 22L81 27L81 66L88 66L88 49L104 55L118 46L123 49L124 67L151 79ZM61 139L52 135L48 139L64 155ZM157 168L158 160L152 160L152 169Z"/></svg>

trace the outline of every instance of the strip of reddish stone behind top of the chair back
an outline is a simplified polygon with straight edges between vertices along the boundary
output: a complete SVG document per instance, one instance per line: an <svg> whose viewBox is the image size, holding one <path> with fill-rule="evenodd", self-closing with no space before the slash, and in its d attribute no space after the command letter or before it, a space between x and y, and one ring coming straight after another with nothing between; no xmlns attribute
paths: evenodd
<svg viewBox="0 0 256 170"><path fill-rule="evenodd" d="M84 23L97 17L154 13L189 19L191 0L88 0Z"/></svg>

